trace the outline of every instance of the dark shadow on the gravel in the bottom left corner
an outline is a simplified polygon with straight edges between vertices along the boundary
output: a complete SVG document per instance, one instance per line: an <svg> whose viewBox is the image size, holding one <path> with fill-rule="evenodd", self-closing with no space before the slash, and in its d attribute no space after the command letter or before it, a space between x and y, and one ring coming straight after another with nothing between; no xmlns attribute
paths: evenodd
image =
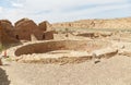
<svg viewBox="0 0 131 85"><path fill-rule="evenodd" d="M5 71L0 68L0 85L9 85L10 81L8 80L8 75Z"/></svg>

